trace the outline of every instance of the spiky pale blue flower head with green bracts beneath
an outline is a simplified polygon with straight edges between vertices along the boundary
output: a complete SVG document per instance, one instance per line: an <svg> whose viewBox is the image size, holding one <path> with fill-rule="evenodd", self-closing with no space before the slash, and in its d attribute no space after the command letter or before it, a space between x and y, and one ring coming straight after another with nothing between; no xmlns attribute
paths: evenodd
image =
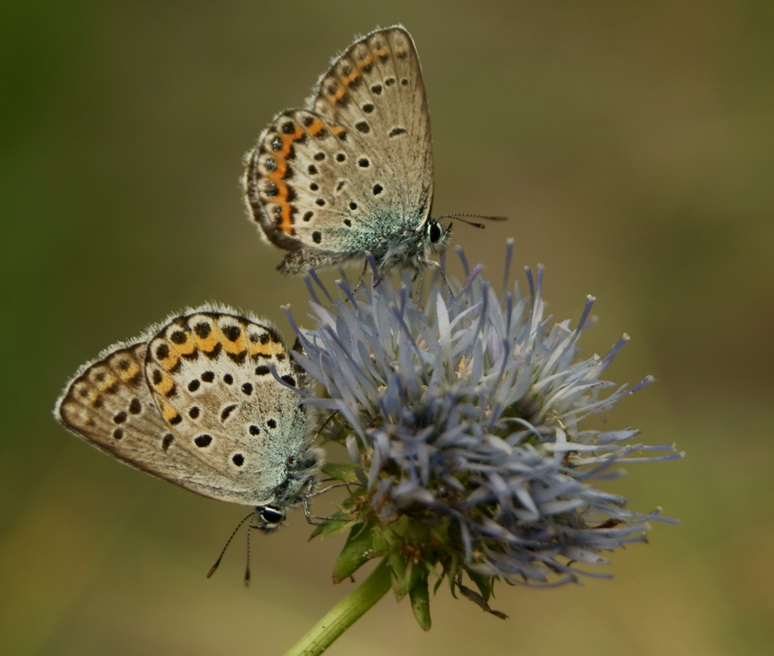
<svg viewBox="0 0 774 656"><path fill-rule="evenodd" d="M506 281L511 253L509 242ZM306 402L327 417L323 439L344 444L352 461L325 470L350 490L318 531L349 531L334 577L387 558L393 589L410 596L423 626L429 582L446 578L453 593L491 610L497 580L599 576L589 566L643 541L658 511L628 510L595 483L621 462L679 457L670 446L632 444L636 430L583 426L651 382L602 378L626 336L605 356L579 357L592 298L575 328L554 323L542 269L527 270L527 295L507 282L498 292L458 254L464 284L435 275L425 293L412 294L404 277L355 290L341 282L334 297L313 275L316 326L294 324L299 362L322 390Z"/></svg>

